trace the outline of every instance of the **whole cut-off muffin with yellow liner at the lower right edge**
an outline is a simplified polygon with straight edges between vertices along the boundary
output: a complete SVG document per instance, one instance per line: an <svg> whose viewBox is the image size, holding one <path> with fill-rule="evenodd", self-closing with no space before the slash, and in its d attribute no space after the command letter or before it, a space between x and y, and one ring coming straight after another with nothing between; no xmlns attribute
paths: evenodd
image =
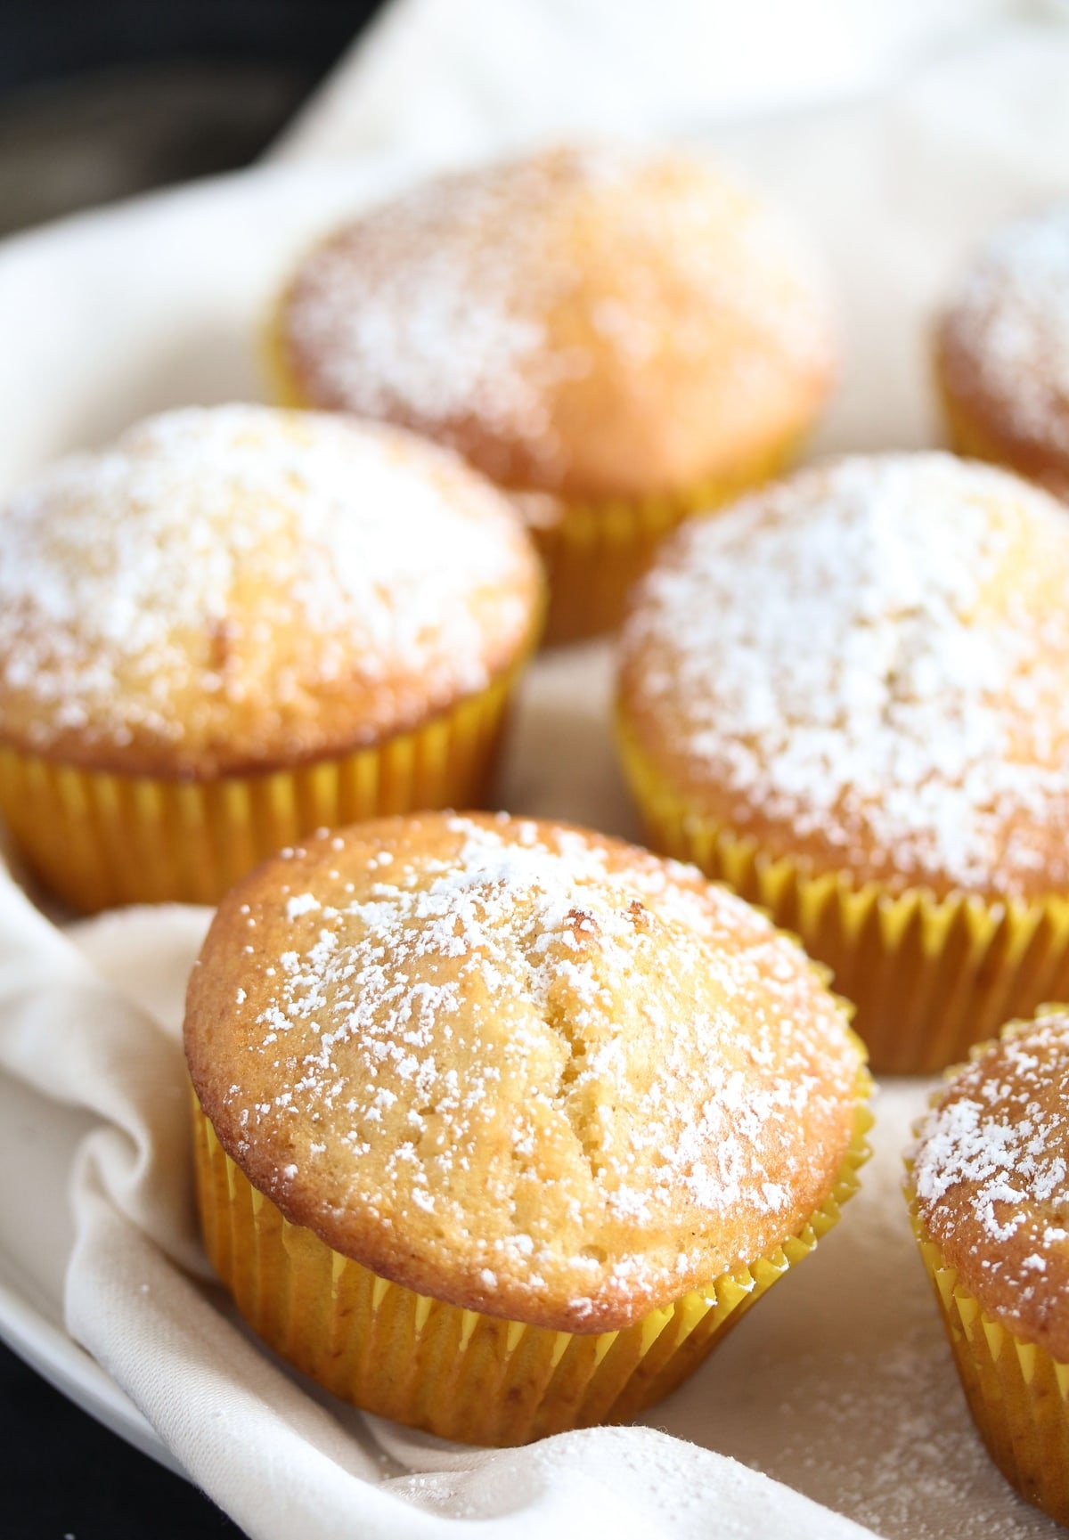
<svg viewBox="0 0 1069 1540"><path fill-rule="evenodd" d="M907 1198L961 1384L1021 1497L1069 1525L1069 1007L977 1052L935 1100Z"/></svg>

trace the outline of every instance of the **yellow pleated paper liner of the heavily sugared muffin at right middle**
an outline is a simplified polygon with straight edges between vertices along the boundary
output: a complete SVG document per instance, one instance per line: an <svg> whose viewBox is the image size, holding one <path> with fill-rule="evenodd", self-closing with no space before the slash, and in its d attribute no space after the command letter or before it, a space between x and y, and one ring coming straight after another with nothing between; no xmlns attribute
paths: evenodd
<svg viewBox="0 0 1069 1540"><path fill-rule="evenodd" d="M1069 895L1030 902L970 893L893 895L849 872L813 875L772 856L667 787L621 719L624 768L655 850L692 861L793 932L853 1001L853 1026L884 1075L933 1073L1009 1016L1069 995Z"/></svg>

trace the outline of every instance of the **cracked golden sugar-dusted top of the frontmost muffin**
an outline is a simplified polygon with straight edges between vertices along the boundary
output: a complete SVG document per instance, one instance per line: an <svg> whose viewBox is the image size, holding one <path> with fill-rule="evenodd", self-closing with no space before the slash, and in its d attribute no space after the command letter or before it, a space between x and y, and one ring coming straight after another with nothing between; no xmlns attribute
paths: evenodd
<svg viewBox="0 0 1069 1540"><path fill-rule="evenodd" d="M186 1006L223 1149L294 1223L453 1304L608 1331L804 1226L861 1056L801 949L696 870L424 815L266 862Z"/></svg>

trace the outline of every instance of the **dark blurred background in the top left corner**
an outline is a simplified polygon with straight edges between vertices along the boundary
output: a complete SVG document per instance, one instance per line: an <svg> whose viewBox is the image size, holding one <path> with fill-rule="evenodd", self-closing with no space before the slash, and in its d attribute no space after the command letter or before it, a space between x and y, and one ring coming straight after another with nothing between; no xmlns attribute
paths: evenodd
<svg viewBox="0 0 1069 1540"><path fill-rule="evenodd" d="M380 0L0 0L0 234L253 160Z"/></svg>

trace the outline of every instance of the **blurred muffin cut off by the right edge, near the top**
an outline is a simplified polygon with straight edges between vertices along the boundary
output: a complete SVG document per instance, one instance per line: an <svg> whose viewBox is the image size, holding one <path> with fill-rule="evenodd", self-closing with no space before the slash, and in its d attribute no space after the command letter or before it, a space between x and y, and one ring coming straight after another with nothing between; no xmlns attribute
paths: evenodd
<svg viewBox="0 0 1069 1540"><path fill-rule="evenodd" d="M952 445L1069 496L1069 205L995 231L940 317Z"/></svg>

